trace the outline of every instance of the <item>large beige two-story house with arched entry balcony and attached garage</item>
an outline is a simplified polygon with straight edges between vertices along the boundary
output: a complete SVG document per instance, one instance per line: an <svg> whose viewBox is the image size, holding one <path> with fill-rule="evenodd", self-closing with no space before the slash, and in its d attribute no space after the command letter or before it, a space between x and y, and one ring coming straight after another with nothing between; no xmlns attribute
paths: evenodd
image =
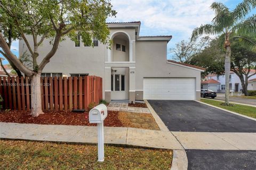
<svg viewBox="0 0 256 170"><path fill-rule="evenodd" d="M110 100L200 99L202 67L166 60L172 36L139 36L140 21L108 23L111 49L93 40L94 47L68 37L43 70L42 76L97 75L103 79L103 98ZM29 37L29 43L33 41ZM39 47L40 56L50 51L49 40ZM24 41L19 41L19 53ZM26 45L25 45L26 47Z"/></svg>

